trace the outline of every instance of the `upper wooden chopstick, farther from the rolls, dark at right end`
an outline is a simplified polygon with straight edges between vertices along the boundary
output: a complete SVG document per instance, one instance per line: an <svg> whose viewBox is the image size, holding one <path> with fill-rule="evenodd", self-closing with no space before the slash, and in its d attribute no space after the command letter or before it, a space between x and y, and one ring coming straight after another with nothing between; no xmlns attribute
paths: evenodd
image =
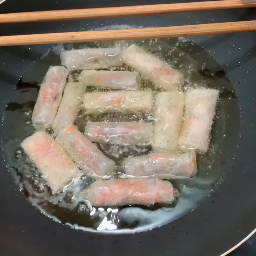
<svg viewBox="0 0 256 256"><path fill-rule="evenodd" d="M0 24L31 21L75 20L109 17L114 18L124 16L142 16L163 13L194 12L248 7L256 7L256 0L222 0L180 4L153 4L57 11L18 12L0 14Z"/></svg>

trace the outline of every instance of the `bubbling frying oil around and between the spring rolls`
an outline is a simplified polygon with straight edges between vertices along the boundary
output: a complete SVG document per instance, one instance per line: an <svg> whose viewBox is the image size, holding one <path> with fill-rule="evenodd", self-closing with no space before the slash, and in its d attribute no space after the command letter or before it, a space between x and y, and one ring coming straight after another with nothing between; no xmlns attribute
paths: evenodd
<svg viewBox="0 0 256 256"><path fill-rule="evenodd" d="M192 179L173 180L172 184L180 192L175 207L155 205L153 207L93 207L81 191L93 180L86 175L77 178L70 186L64 188L59 195L53 196L36 167L22 151L20 143L35 132L31 124L31 115L36 102L41 83L50 65L60 65L59 46L52 49L42 59L23 75L16 85L10 102L4 113L3 148L8 169L13 173L22 193L29 198L33 205L40 208L48 216L69 225L90 231L107 232L138 232L159 227L179 218L193 210L203 202L225 177L227 169L223 170L223 161L230 161L226 152L221 152L224 140L232 141L235 145L238 138L239 110L236 93L225 72L218 63L200 46L185 38L150 39L130 42L108 42L88 44L68 44L66 49L84 47L111 47L121 45L127 47L135 43L144 50L151 52L180 70L186 77L184 89L205 87L220 90L216 117L212 127L212 138L207 154L198 156L198 173ZM57 49L57 50L56 50ZM132 70L126 66L113 67L111 70ZM72 72L68 79L76 81L79 71ZM142 80L141 90L154 88L147 80ZM88 87L87 92L104 91L101 88ZM15 120L15 125L13 120ZM85 115L80 111L76 125L81 132L88 121L136 121L153 122L152 113L120 113L102 114L98 116ZM226 134L226 128L234 127L232 134ZM231 143L231 144L232 144ZM231 146L230 144L230 146ZM127 156L140 156L152 152L151 146L118 146L98 145L100 150L116 162L116 177L124 172L122 160ZM226 157L226 158L225 158Z"/></svg>

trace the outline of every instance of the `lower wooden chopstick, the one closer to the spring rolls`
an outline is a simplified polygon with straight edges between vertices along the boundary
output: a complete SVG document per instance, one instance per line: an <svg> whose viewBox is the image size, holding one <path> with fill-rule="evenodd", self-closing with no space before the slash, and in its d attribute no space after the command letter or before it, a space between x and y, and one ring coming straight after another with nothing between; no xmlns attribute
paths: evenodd
<svg viewBox="0 0 256 256"><path fill-rule="evenodd" d="M138 28L103 31L0 36L0 46L25 44L79 43L110 40L201 36L256 31L256 20L210 23L161 28Z"/></svg>

